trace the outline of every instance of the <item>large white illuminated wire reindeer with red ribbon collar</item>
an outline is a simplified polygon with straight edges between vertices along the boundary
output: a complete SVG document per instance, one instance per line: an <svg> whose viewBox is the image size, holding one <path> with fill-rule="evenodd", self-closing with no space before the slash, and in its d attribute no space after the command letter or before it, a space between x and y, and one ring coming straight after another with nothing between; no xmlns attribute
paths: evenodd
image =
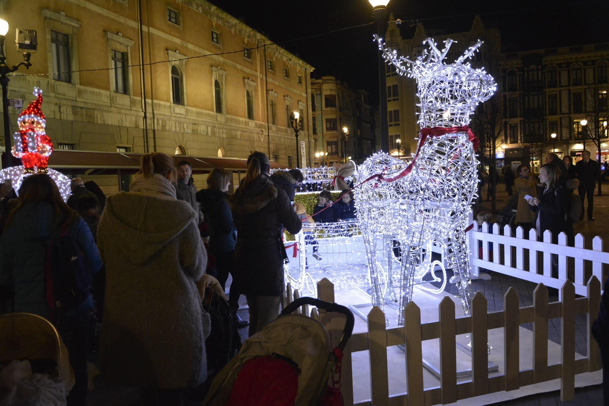
<svg viewBox="0 0 609 406"><path fill-rule="evenodd" d="M395 65L401 75L417 80L421 131L414 161L399 174L396 173L398 164L388 165L378 155L368 160L379 164L362 165L368 172L375 167L376 173L382 173L385 179L376 181L377 188L381 187L382 191L389 185L395 192L382 192L375 197L375 181L369 182L373 185L362 189L356 197L356 202L358 198L364 200L359 202L358 215L369 217L368 222L375 216L395 216L393 234L400 242L401 251L398 324L403 324L403 309L412 299L415 278L421 278L424 271L434 267L429 250L432 243L444 248L447 265L454 271L463 311L470 315L472 292L465 234L470 206L476 197L477 139L468 124L477 105L495 93L496 83L484 69L474 69L463 61L470 58L482 42L477 41L453 63L445 63L446 54L454 43L450 39L444 41L445 47L440 51L428 38L429 51L423 51L420 57L410 61L398 57L381 38L375 38L385 60ZM380 186L382 183L386 184ZM380 206L391 209L381 213ZM426 250L425 259L421 261L423 250ZM372 284L374 293L375 282Z"/></svg>

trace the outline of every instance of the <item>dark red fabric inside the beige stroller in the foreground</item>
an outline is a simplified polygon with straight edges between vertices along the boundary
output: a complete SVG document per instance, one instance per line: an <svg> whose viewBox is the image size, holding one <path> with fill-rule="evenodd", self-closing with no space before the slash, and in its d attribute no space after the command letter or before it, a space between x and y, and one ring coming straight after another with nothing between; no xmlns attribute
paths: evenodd
<svg viewBox="0 0 609 406"><path fill-rule="evenodd" d="M271 355L250 359L239 371L225 406L292 406L299 374L294 365Z"/></svg>

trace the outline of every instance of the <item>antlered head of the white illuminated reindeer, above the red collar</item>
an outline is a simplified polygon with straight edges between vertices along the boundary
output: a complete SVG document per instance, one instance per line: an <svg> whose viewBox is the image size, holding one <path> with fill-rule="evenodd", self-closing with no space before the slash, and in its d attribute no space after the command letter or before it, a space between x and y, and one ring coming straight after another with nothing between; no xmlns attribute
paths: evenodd
<svg viewBox="0 0 609 406"><path fill-rule="evenodd" d="M421 109L418 124L424 127L456 127L470 124L470 116L478 103L488 100L497 89L495 79L484 69L474 69L469 63L463 64L482 45L478 40L454 63L444 63L451 39L444 41L445 47L439 51L434 40L428 38L429 51L414 61L398 57L375 35L385 61L395 65L400 75L408 75L417 80Z"/></svg>

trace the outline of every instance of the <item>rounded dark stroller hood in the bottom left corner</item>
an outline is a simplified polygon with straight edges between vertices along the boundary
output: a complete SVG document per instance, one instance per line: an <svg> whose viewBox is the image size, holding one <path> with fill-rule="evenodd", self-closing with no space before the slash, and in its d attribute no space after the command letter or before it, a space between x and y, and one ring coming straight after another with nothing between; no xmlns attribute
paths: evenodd
<svg viewBox="0 0 609 406"><path fill-rule="evenodd" d="M0 369L14 360L29 361L34 374L61 379L66 394L74 387L68 349L53 324L43 317L30 313L0 315Z"/></svg>

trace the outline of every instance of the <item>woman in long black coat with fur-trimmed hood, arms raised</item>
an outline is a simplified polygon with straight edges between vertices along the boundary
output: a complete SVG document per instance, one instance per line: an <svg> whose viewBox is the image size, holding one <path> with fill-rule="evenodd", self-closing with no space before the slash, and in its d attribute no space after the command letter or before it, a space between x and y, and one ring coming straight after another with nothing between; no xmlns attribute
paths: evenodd
<svg viewBox="0 0 609 406"><path fill-rule="evenodd" d="M242 186L229 198L237 228L234 278L250 307L250 336L279 315L287 257L281 230L296 234L302 227L283 187L270 180L269 170L266 154L252 153Z"/></svg>

